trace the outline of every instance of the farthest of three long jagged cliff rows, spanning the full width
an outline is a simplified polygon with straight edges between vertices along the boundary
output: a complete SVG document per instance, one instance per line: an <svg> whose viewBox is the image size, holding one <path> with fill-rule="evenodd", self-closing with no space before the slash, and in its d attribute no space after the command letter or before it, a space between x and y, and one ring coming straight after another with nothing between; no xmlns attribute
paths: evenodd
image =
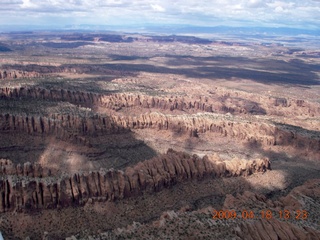
<svg viewBox="0 0 320 240"><path fill-rule="evenodd" d="M319 116L320 105L302 99L244 95L226 93L221 90L213 97L152 97L134 94L101 95L70 90L47 90L43 88L0 88L0 98L42 99L67 101L82 106L100 106L112 110L122 108L144 108L184 112L220 112L234 114L276 115L276 116ZM251 99L252 98L252 99ZM254 101L253 101L254 100Z"/></svg>

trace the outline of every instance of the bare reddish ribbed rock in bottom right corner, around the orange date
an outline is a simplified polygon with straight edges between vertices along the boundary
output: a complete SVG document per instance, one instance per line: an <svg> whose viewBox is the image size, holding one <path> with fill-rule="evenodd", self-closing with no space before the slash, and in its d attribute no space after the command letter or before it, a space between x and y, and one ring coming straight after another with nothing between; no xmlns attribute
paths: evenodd
<svg viewBox="0 0 320 240"><path fill-rule="evenodd" d="M316 209L320 207L319 184L320 179L308 180L287 196L274 201L250 191L237 194L236 197L228 194L223 208L254 211L259 216L259 220L249 222L247 219L234 228L240 239L319 239L320 232L312 228L312 225L317 226L319 220L316 214ZM269 219L260 215L260 210L266 209L271 213ZM284 214L279 214L280 211L287 211L289 215L285 218ZM304 226L298 227L298 221L303 221Z"/></svg>

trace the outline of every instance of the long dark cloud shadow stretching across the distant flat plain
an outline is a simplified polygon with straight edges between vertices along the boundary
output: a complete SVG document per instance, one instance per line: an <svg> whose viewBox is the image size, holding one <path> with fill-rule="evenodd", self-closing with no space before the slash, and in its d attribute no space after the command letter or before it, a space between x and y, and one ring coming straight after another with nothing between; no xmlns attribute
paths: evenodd
<svg viewBox="0 0 320 240"><path fill-rule="evenodd" d="M113 56L118 61L139 59L138 56L123 57ZM135 63L110 63L110 64L73 64L55 66L39 65L6 65L3 68L14 68L21 71L35 71L41 74L59 73L63 69L76 69L77 73L110 75L113 71L120 76L136 76L139 72L181 74L191 78L248 79L264 84L295 84L319 85L320 79L315 72L320 71L320 66L308 64L300 59L289 62L272 59L252 59L246 57L193 57L170 56L166 66ZM94 81L91 81L94 82Z"/></svg>

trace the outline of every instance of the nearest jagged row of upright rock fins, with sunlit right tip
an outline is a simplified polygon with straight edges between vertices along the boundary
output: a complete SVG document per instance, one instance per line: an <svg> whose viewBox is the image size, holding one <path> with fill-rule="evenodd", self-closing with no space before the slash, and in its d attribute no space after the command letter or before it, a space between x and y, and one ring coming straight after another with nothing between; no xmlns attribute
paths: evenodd
<svg viewBox="0 0 320 240"><path fill-rule="evenodd" d="M43 177L39 165L8 165L2 160L0 211L81 205L89 199L114 201L155 192L177 182L203 177L245 176L270 169L268 159L239 161L237 165L169 150L167 154L123 171L100 170L70 176ZM8 173L16 174L9 175Z"/></svg>

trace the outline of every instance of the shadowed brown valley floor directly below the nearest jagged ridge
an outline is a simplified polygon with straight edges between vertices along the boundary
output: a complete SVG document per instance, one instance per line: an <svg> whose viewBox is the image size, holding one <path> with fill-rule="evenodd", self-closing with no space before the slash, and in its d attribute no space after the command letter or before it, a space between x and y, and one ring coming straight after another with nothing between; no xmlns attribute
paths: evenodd
<svg viewBox="0 0 320 240"><path fill-rule="evenodd" d="M126 227L134 221L150 223L150 221L159 219L165 211L178 211L186 206L189 206L191 210L207 206L221 209L226 194L236 195L253 189L245 177L221 178L216 176L215 173L199 177L194 172L187 173L187 175L189 178L185 177L177 182L177 179L173 179L174 181L163 187L152 186L152 183L149 182L149 190L143 190L123 200L94 201L99 210L95 210L93 204L87 204L85 208L75 206L60 208L59 210L36 210L36 214L31 213L35 222L28 226L27 233L34 239L39 239L37 236L41 236L43 232L39 232L41 228L39 230L37 227L48 216L45 213L51 216L47 231L55 238L65 238L84 230L94 233L100 230L107 231L118 227ZM190 179L190 177L193 179ZM154 191L150 191L152 188L154 188ZM89 192L89 194L94 193ZM81 220L78 219L79 216L81 216ZM61 219L63 219L63 223L61 223ZM75 219L78 219L78 221L75 221ZM32 230L38 232L32 233Z"/></svg>

